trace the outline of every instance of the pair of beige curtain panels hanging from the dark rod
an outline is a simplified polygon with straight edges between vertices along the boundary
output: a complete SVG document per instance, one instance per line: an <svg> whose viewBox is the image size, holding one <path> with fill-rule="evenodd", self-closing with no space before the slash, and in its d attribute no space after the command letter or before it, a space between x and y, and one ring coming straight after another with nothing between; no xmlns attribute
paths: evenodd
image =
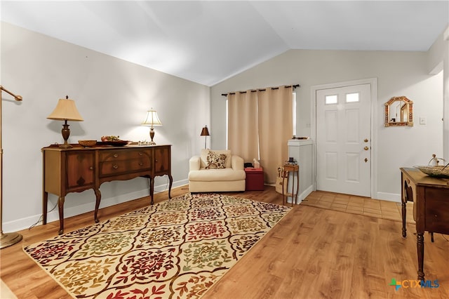
<svg viewBox="0 0 449 299"><path fill-rule="evenodd" d="M288 160L292 93L292 86L281 86L228 94L228 149L245 162L260 159L267 184L276 182L277 167Z"/></svg>

